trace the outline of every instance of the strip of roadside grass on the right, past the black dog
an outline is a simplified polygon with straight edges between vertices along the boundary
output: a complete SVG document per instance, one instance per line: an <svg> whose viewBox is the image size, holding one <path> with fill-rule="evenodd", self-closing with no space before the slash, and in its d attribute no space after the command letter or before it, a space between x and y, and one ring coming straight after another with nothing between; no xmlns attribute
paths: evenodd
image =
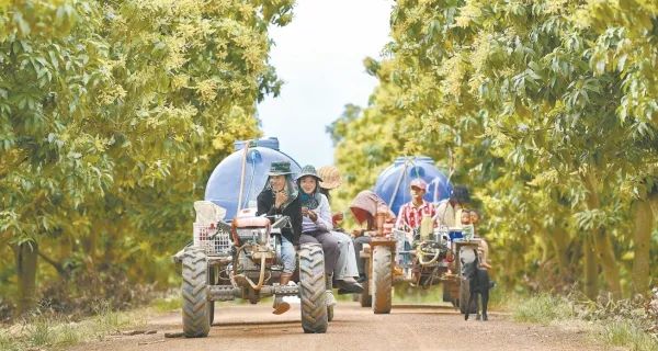
<svg viewBox="0 0 658 351"><path fill-rule="evenodd" d="M643 329L640 318L619 312L593 312L591 304L580 304L564 296L540 294L514 296L510 303L513 319L542 325L577 325L595 341L634 351L658 351L658 338Z"/></svg>

